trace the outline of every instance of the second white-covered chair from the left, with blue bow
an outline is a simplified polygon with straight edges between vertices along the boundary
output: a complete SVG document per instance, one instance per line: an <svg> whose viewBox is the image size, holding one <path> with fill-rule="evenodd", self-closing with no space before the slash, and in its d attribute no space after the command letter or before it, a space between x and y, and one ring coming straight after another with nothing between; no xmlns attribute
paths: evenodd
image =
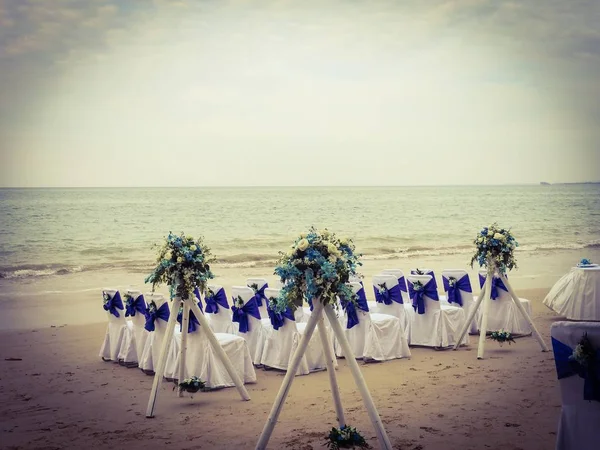
<svg viewBox="0 0 600 450"><path fill-rule="evenodd" d="M127 329L119 352L119 360L127 366L137 366L144 351L148 331L146 324L146 300L140 291L128 289L124 295Z"/></svg>

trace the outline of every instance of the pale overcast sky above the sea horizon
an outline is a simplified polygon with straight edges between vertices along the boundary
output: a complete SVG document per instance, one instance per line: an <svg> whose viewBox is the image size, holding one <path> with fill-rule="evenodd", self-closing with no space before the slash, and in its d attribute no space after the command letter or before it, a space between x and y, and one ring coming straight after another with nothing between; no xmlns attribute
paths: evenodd
<svg viewBox="0 0 600 450"><path fill-rule="evenodd" d="M598 0L0 0L0 186L598 181L598 23Z"/></svg>

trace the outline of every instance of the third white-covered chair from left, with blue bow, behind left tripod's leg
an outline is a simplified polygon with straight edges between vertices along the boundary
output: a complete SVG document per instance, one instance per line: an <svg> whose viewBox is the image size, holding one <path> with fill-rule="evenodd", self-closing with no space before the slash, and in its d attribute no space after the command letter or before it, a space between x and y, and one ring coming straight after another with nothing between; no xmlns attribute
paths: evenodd
<svg viewBox="0 0 600 450"><path fill-rule="evenodd" d="M142 357L138 363L138 366L142 371L147 374L153 374L155 365L158 364L160 357L160 351L162 341L167 331L167 322L171 314L169 310L169 302L165 299L164 295L157 293L146 293L146 304L148 305L148 312L146 315L146 323L144 328L149 332L144 345L144 351ZM176 327L176 331L179 327ZM171 345L168 348L167 361L173 361L173 351L176 340L173 339ZM169 361L170 360L170 361ZM171 364L167 364L165 369L165 376L171 378L172 374L175 373L175 368Z"/></svg>

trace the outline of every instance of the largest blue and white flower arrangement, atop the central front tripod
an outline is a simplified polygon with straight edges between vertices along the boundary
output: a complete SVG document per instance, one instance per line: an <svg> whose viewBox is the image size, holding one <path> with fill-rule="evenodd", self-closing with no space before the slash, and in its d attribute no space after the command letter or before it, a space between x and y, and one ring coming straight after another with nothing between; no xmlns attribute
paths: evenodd
<svg viewBox="0 0 600 450"><path fill-rule="evenodd" d="M352 298L347 285L362 265L350 239L338 239L327 229L311 227L302 233L287 253L280 252L275 275L281 279L281 288L275 311L298 307L304 298L319 299L324 305L336 304L339 295Z"/></svg>

